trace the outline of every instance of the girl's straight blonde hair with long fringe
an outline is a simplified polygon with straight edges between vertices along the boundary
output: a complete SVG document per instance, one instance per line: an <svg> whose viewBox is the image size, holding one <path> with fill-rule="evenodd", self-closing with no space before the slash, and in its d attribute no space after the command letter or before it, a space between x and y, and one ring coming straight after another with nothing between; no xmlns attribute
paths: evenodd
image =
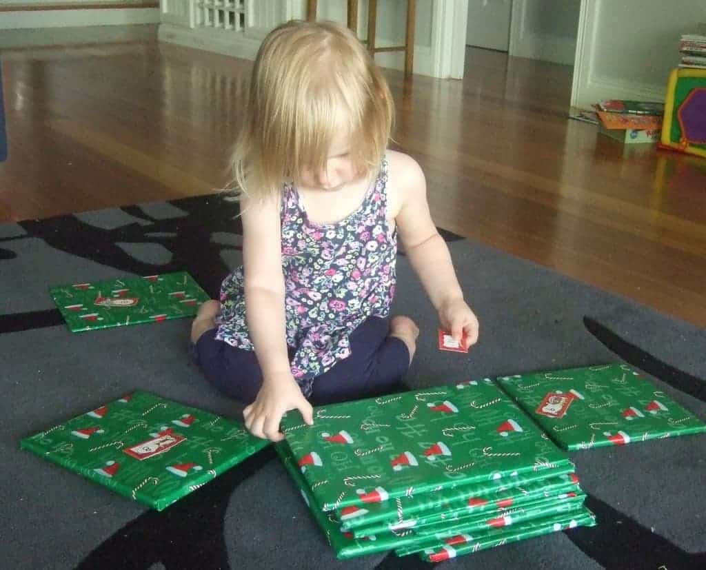
<svg viewBox="0 0 706 570"><path fill-rule="evenodd" d="M393 116L388 83L353 32L333 22L282 24L255 59L232 158L236 193L263 199L304 170L321 171L341 132L359 174L370 174Z"/></svg>

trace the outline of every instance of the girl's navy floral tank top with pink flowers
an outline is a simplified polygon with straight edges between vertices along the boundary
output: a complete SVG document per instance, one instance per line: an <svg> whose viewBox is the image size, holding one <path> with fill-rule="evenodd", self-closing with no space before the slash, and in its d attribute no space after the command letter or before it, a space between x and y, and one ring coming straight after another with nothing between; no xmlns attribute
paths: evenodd
<svg viewBox="0 0 706 570"><path fill-rule="evenodd" d="M297 188L282 189L282 273L292 375L305 396L316 377L350 356L350 334L386 317L395 294L397 231L386 217L388 163L361 205L335 224L310 222ZM245 318L243 268L223 281L216 338L253 350Z"/></svg>

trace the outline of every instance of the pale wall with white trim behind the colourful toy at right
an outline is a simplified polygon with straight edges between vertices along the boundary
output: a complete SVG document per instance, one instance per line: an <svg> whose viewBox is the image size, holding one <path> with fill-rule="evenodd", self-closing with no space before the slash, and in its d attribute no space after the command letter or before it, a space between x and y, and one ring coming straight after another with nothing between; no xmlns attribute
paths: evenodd
<svg viewBox="0 0 706 570"><path fill-rule="evenodd" d="M706 0L582 0L572 104L661 100L679 37L706 22Z"/></svg>

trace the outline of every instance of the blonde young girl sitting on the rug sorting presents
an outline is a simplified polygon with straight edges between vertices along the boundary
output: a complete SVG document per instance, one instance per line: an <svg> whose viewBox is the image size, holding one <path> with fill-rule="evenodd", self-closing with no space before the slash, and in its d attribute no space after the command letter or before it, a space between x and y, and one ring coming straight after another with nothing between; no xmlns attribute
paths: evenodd
<svg viewBox="0 0 706 570"><path fill-rule="evenodd" d="M205 376L245 404L246 427L282 439L282 415L389 393L419 330L388 322L397 236L441 327L474 344L478 322L426 202L414 159L387 150L393 99L357 37L290 22L265 38L234 153L243 267L191 329Z"/></svg>

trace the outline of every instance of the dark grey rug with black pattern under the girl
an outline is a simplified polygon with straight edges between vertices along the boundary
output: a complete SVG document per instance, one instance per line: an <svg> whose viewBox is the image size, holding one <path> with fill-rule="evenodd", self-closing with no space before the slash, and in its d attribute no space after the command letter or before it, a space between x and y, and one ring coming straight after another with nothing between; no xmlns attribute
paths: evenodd
<svg viewBox="0 0 706 570"><path fill-rule="evenodd" d="M71 334L47 294L52 284L186 269L214 295L240 260L236 213L236 205L209 197L0 224L3 568L429 566L394 554L335 560L269 449L162 513L18 449L20 437L131 389L238 415L239 406L215 393L191 363L186 320ZM444 235L481 340L467 356L438 351L435 315L400 255L395 312L413 317L422 331L409 387L623 359L706 418L704 330ZM706 568L706 437L597 448L573 459L599 526L445 564Z"/></svg>

